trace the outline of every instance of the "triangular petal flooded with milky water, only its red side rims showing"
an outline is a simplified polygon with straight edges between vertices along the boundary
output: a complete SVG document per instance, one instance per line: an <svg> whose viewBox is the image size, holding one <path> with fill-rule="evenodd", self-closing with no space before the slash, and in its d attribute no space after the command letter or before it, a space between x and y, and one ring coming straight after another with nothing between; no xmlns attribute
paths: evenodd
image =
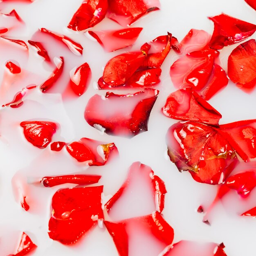
<svg viewBox="0 0 256 256"><path fill-rule="evenodd" d="M164 182L152 169L135 162L130 166L124 184L105 206L110 218L115 220L144 215L155 209L161 213L166 193ZM141 202L144 202L144 209L140 209Z"/></svg>

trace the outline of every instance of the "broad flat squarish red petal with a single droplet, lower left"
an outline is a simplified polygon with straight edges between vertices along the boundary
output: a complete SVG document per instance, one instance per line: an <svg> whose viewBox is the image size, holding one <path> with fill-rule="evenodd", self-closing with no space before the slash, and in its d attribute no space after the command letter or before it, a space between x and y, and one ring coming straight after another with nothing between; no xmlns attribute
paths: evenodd
<svg viewBox="0 0 256 256"><path fill-rule="evenodd" d="M76 243L103 219L103 186L58 190L52 198L49 237L65 245Z"/></svg>

